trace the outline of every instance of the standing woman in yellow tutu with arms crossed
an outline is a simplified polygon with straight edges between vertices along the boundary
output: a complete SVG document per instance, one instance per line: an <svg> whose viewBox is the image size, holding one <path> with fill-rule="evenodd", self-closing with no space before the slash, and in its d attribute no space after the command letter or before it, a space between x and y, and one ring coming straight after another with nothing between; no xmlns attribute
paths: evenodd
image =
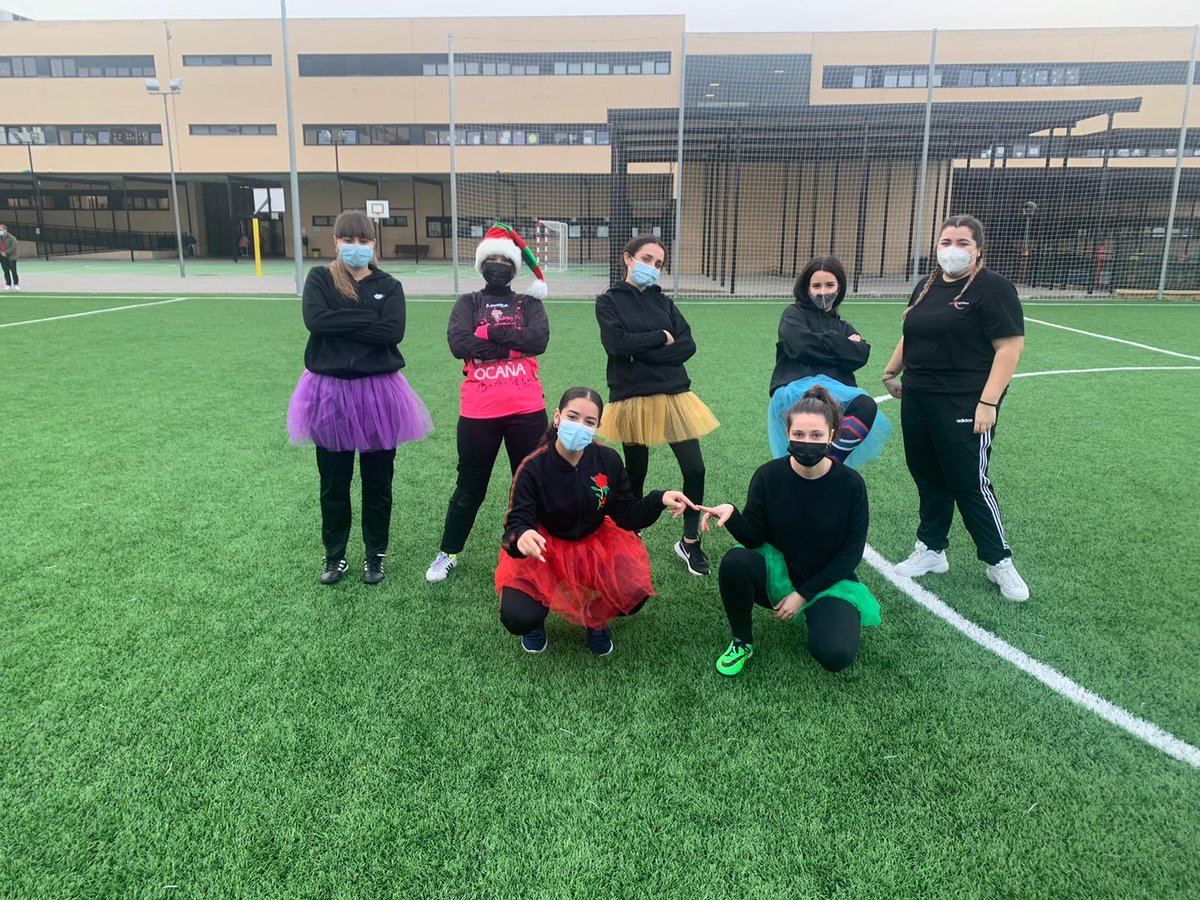
<svg viewBox="0 0 1200 900"><path fill-rule="evenodd" d="M720 422L691 392L684 362L696 353L691 328L659 287L666 259L662 241L641 234L625 245L625 280L596 298L600 341L608 354L608 412L598 432L619 440L636 497L642 496L650 448L667 444L679 461L683 492L696 506L704 498L700 439ZM700 512L684 514L676 553L692 575L710 572L700 546Z"/></svg>

